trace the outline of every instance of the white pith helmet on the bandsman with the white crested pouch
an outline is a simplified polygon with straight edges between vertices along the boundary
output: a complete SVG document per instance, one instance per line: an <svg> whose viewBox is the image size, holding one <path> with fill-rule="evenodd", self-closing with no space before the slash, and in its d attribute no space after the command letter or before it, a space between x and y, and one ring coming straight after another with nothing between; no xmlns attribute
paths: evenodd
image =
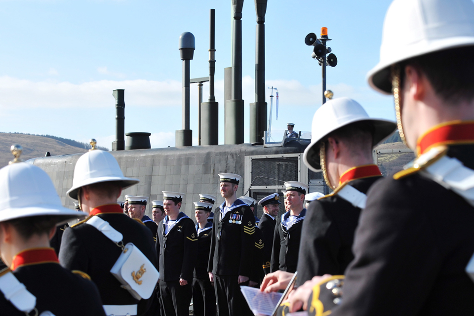
<svg viewBox="0 0 474 316"><path fill-rule="evenodd" d="M126 178L117 160L108 152L93 150L82 155L74 167L73 187L67 195L78 199L80 187L107 181L117 181L122 189L140 182L138 179Z"/></svg>

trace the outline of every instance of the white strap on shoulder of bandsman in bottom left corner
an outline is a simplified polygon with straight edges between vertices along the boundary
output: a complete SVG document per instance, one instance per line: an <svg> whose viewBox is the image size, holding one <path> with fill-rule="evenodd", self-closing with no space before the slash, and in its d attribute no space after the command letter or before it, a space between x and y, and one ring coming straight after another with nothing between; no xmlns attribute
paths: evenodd
<svg viewBox="0 0 474 316"><path fill-rule="evenodd" d="M0 291L19 311L30 313L35 309L36 297L21 283L13 273L7 272L0 276Z"/></svg>

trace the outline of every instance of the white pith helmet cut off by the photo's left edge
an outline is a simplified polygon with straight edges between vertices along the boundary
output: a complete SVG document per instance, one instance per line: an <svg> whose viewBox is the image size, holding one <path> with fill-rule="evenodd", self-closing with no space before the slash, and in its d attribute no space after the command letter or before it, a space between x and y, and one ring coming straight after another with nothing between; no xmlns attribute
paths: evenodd
<svg viewBox="0 0 474 316"><path fill-rule="evenodd" d="M86 216L61 205L51 178L26 162L0 169L0 222L31 216L57 216L58 223Z"/></svg>

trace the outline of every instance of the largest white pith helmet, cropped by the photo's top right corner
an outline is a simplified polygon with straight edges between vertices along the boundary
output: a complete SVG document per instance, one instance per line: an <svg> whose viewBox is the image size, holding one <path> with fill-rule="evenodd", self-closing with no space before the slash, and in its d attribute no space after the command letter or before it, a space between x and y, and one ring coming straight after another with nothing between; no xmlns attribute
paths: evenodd
<svg viewBox="0 0 474 316"><path fill-rule="evenodd" d="M391 65L435 51L472 45L472 0L395 0L385 15L380 62L368 72L367 80L375 90L391 94Z"/></svg>

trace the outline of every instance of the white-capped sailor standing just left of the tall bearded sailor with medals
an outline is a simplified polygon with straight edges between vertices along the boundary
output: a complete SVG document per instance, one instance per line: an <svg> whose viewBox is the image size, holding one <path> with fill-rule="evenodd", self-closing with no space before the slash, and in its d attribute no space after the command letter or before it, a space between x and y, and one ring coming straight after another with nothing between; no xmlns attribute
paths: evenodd
<svg viewBox="0 0 474 316"><path fill-rule="evenodd" d="M207 273L212 236L212 222L207 219L212 211L212 204L194 202L194 205L197 221L197 261L193 278L193 312L196 316L216 316L216 293Z"/></svg>

